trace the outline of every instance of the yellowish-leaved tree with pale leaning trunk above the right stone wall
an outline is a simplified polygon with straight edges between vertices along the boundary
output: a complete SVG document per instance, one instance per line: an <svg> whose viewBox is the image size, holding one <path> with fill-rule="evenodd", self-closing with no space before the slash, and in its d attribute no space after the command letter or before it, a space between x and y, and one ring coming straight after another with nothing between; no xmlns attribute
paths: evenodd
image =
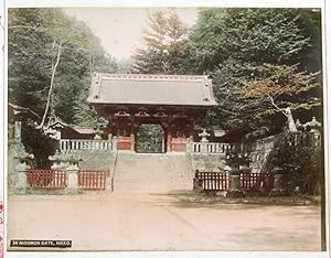
<svg viewBox="0 0 331 258"><path fill-rule="evenodd" d="M317 74L297 69L297 65L255 66L250 83L235 89L246 119L268 119L280 112L287 118L289 131L297 131L291 111L321 106L321 99L313 92L319 87Z"/></svg>

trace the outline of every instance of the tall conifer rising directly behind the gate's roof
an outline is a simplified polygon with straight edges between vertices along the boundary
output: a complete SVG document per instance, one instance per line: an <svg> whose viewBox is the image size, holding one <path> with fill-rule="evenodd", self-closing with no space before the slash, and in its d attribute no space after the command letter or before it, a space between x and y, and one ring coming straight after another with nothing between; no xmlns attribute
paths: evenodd
<svg viewBox="0 0 331 258"><path fill-rule="evenodd" d="M143 74L181 74L188 55L188 28L177 13L157 11L149 15L149 29L142 32L146 47L135 50L134 68Z"/></svg>

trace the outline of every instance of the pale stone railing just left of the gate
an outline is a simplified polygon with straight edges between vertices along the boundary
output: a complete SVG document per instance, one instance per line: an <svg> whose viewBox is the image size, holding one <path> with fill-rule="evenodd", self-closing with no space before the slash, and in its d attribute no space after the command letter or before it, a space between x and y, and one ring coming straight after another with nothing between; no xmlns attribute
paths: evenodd
<svg viewBox="0 0 331 258"><path fill-rule="evenodd" d="M82 151L82 150L115 150L116 144L110 140L85 140L85 139L61 139L60 151Z"/></svg>

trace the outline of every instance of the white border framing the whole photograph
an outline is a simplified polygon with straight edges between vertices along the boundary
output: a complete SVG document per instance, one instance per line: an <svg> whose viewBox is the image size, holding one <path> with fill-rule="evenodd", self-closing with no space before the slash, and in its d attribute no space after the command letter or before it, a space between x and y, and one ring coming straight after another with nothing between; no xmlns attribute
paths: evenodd
<svg viewBox="0 0 331 258"><path fill-rule="evenodd" d="M7 28L7 8L19 8L19 7L125 7L125 8L134 8L134 7L250 7L250 8L321 8L322 9L322 21L323 21L323 42L328 42L328 46L330 47L330 33L327 34L327 22L329 22L329 19L331 17L331 4L328 2L328 0L278 0L278 1L270 1L270 0L244 0L244 1L235 1L235 0L209 0L209 1L196 1L196 0L181 0L180 2L178 0L140 0L140 1L124 1L124 0L4 0L6 6L0 9L3 12L6 10L6 15L2 21L6 23ZM1 4L3 2L1 1ZM329 28L330 30L330 28ZM0 35L1 36L1 35ZM1 41L0 41L1 42ZM4 37L4 43L7 46L7 33ZM325 137L325 181L327 181L327 189L325 189L325 198L329 203L329 193L330 193L330 185L329 185L329 160L331 159L331 153L329 152L329 141L328 141L328 121L330 118L330 105L327 101L327 99L331 98L331 90L328 90L328 78L327 74L331 74L331 54L330 49L327 51L327 45L323 44L323 82L324 82L324 90L323 90L323 99L324 99L324 137ZM7 47L4 53L4 71L3 71L3 84L4 87L1 87L1 94L0 94L0 101L3 107L3 111L0 114L0 122L1 125L7 125ZM325 58L327 57L327 58ZM0 68L2 63L0 63ZM329 86L331 86L329 84ZM3 103L2 103L3 101ZM0 135L3 136L4 140L4 148L7 147L7 127L0 127ZM3 153L4 152L4 153ZM0 161L3 160L2 163L2 171L7 171L7 148L3 149L0 148ZM3 173L4 175L4 173ZM1 183L1 181L0 181ZM1 184L0 184L1 185ZM7 185L7 179L4 178L4 185ZM1 195L0 195L1 196ZM4 196L7 196L7 187L4 187ZM7 202L4 206L4 212L7 215ZM328 250L330 251L330 211L329 205L327 205L327 245ZM7 227L4 228L7 230ZM4 237L4 250L7 249L7 239ZM7 251L4 252L6 257L330 257L329 251L327 252L284 252L284 251L277 251L277 252L237 252L237 251L167 251L167 252L146 252L146 251L139 251L139 252L125 252L125 251L118 251L118 252L14 252L14 251Z"/></svg>

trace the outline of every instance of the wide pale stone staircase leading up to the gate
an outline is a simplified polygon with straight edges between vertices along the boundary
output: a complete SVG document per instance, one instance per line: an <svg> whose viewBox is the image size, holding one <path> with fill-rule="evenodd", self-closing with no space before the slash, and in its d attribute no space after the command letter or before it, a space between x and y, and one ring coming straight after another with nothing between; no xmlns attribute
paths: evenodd
<svg viewBox="0 0 331 258"><path fill-rule="evenodd" d="M119 151L114 174L114 192L167 193L191 190L192 179L184 153Z"/></svg>

